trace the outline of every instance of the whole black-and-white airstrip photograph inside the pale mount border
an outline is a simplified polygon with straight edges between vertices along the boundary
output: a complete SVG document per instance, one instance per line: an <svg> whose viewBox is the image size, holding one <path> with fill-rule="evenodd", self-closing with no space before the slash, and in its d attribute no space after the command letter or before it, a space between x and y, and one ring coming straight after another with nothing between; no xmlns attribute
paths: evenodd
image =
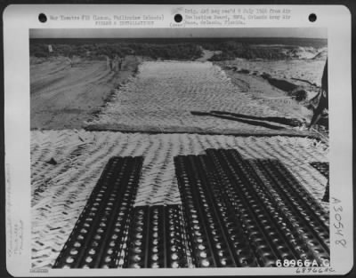
<svg viewBox="0 0 356 278"><path fill-rule="evenodd" d="M30 29L31 267L329 266L327 35Z"/></svg>

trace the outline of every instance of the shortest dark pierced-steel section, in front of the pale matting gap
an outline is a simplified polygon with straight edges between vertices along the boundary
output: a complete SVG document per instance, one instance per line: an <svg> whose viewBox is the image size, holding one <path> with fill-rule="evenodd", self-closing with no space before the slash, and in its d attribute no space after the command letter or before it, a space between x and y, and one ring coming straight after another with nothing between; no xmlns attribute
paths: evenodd
<svg viewBox="0 0 356 278"><path fill-rule="evenodd" d="M180 205L135 207L124 267L188 267L183 223Z"/></svg>

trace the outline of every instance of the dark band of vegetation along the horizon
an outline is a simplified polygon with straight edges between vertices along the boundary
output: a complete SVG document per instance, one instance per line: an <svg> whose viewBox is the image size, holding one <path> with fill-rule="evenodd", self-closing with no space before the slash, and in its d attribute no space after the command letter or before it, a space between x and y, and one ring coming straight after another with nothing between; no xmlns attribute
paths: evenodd
<svg viewBox="0 0 356 278"><path fill-rule="evenodd" d="M267 44L263 47L261 44ZM52 45L53 52L49 52ZM283 45L282 47L280 45ZM30 41L30 55L37 58L51 56L87 57L96 59L102 56L125 57L137 55L153 60L196 60L203 49L213 51L211 61L244 59L289 60L298 59L299 47L320 49L327 41L320 39L297 38L241 38L241 39L158 39L154 40L81 40L81 39L40 39Z"/></svg>

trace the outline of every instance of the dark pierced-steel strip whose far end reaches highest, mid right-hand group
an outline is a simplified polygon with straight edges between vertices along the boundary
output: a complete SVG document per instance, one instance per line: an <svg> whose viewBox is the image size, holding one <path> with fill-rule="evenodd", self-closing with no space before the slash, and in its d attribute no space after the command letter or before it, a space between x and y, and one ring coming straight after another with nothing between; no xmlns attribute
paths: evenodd
<svg viewBox="0 0 356 278"><path fill-rule="evenodd" d="M269 212L273 208L270 203L263 203L261 196L257 195L257 184L243 160L233 161L230 151L206 152L214 161L215 167L221 171L220 176L227 181L223 188L229 191L230 202L236 203L235 213L247 227L247 234L254 234L251 245L260 266L275 266L277 259L295 259L280 227L271 218Z"/></svg>

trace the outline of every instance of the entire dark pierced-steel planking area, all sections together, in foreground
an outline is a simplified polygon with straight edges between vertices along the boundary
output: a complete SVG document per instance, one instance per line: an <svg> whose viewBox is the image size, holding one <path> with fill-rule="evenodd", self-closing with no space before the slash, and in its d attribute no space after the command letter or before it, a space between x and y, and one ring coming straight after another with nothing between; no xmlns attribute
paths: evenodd
<svg viewBox="0 0 356 278"><path fill-rule="evenodd" d="M275 160L174 157L180 205L133 209L142 157L114 157L54 267L275 266L329 259L328 215Z"/></svg>

